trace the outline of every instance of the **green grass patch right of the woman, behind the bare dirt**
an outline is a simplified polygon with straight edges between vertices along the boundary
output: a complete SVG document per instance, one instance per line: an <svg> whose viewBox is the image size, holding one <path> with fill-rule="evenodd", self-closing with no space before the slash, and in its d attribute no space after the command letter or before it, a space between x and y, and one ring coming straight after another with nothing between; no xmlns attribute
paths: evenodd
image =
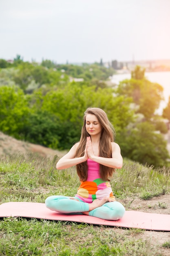
<svg viewBox="0 0 170 256"><path fill-rule="evenodd" d="M152 167L125 160L111 185L119 198L140 194L141 199L149 200L170 192L170 169L163 167L153 170Z"/></svg>

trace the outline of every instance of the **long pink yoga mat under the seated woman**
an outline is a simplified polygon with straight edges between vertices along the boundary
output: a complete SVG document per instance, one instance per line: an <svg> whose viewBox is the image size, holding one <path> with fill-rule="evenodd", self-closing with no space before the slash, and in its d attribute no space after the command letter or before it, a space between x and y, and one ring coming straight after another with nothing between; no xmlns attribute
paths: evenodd
<svg viewBox="0 0 170 256"><path fill-rule="evenodd" d="M124 217L120 220L102 220L83 214L62 214L51 211L47 209L43 203L8 202L1 204L0 218L10 216L84 222L88 224L117 226L124 228L170 231L169 214L146 213L141 211L126 211Z"/></svg>

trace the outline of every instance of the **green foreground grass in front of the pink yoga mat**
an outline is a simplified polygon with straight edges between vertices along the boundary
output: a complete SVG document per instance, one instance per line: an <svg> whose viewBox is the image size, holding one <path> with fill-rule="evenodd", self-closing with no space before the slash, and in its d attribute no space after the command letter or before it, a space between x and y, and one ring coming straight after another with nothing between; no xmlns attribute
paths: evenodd
<svg viewBox="0 0 170 256"><path fill-rule="evenodd" d="M134 230L122 235L109 227L23 218L4 219L0 230L0 255L148 255L148 240L136 239Z"/></svg>

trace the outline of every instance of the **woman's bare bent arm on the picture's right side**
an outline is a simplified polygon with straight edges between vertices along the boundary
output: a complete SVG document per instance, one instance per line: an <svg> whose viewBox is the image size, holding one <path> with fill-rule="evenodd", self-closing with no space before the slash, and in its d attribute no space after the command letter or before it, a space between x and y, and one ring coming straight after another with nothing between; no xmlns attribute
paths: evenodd
<svg viewBox="0 0 170 256"><path fill-rule="evenodd" d="M88 158L93 161L103 164L108 167L120 169L123 165L123 158L121 156L121 150L117 143L112 142L112 158L99 157L94 155L91 140L89 139L87 148Z"/></svg>

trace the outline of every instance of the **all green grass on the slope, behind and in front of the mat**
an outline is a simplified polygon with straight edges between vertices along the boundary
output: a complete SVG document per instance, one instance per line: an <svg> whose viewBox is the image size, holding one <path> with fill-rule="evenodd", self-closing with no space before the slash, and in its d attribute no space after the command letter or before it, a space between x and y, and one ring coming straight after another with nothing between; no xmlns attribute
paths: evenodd
<svg viewBox="0 0 170 256"><path fill-rule="evenodd" d="M54 159L37 155L10 155L0 161L0 204L12 201L44 202L49 195L73 196L79 180L75 168L57 171ZM125 160L111 182L117 198L162 195L170 192L170 172ZM148 193L148 194L147 194ZM145 195L145 197L144 197ZM166 207L160 203L159 207ZM144 230L54 222L25 218L0 220L0 255L42 256L152 256L161 247L142 238Z"/></svg>

